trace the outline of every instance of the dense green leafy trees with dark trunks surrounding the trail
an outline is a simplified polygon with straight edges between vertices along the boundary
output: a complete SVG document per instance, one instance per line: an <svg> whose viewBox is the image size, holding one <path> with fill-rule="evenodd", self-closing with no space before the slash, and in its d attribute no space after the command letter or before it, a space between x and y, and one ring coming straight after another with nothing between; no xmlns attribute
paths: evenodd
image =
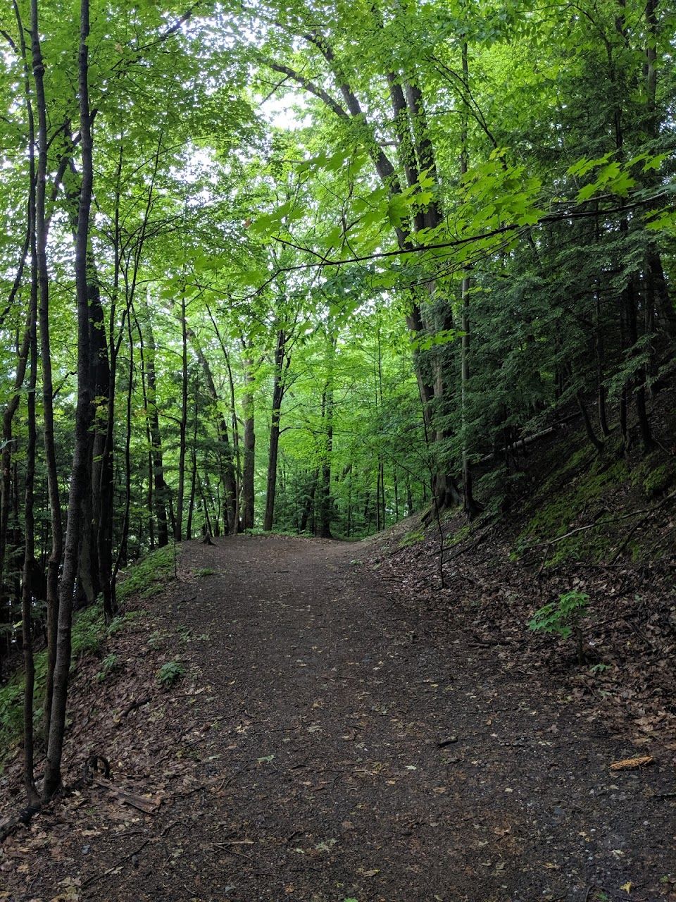
<svg viewBox="0 0 676 902"><path fill-rule="evenodd" d="M505 512L519 446L565 418L598 456L663 445L665 0L0 23L0 655L23 643L30 803L61 785L73 611L112 620L132 558Z"/></svg>

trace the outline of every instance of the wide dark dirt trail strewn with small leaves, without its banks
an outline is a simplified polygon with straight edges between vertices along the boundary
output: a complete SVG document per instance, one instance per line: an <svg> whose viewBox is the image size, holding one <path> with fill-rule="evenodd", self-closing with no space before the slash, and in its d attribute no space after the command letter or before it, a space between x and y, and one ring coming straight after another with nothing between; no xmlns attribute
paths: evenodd
<svg viewBox="0 0 676 902"><path fill-rule="evenodd" d="M102 840L94 871L76 861L82 898L673 898L673 801L651 799L671 774L611 772L630 745L460 632L435 643L434 614L411 613L367 553L185 546L167 616L192 631L198 688L172 709L190 740L169 754L194 761L196 789Z"/></svg>

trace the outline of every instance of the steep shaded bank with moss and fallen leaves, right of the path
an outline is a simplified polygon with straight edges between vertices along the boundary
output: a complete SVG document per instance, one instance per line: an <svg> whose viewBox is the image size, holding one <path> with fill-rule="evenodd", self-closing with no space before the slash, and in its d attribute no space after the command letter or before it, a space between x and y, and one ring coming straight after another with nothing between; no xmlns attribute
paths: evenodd
<svg viewBox="0 0 676 902"><path fill-rule="evenodd" d="M470 643L523 672L544 667L590 717L676 752L676 404L653 402L656 444L598 455L571 419L522 447L503 474L503 513L467 524L434 510L378 542L378 566L443 633L464 624ZM495 470L489 474L497 483ZM424 525L426 524L426 525ZM443 561L443 584L440 567ZM457 595L461 592L462 602ZM528 629L563 594L589 596L574 637ZM452 602L451 602L452 600ZM565 627L565 622L563 623ZM627 733L628 731L628 733Z"/></svg>

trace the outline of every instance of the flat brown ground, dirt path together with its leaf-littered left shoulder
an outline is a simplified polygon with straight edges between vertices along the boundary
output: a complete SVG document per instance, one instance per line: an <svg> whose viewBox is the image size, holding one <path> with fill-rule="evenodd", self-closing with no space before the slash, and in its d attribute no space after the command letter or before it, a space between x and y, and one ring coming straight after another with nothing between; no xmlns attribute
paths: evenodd
<svg viewBox="0 0 676 902"><path fill-rule="evenodd" d="M78 667L69 765L104 754L110 780L5 842L0 898L676 898L673 745L481 639L471 555L439 593L406 553L185 543L119 664ZM186 673L162 689L168 661ZM637 754L654 761L610 769Z"/></svg>

